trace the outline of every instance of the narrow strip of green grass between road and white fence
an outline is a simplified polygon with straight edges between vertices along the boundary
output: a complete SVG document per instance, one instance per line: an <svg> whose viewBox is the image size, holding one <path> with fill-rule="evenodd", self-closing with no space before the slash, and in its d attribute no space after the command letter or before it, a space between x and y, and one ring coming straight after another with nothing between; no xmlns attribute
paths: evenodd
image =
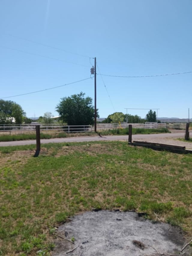
<svg viewBox="0 0 192 256"><path fill-rule="evenodd" d="M133 134L154 134L154 133L166 133L170 132L167 128L161 129L144 129L144 128L133 128ZM113 129L107 131L101 131L101 135L126 135L129 134L128 128L125 129ZM76 137L76 136L93 136L96 135L95 132L82 132L82 133L56 133L56 134L47 134L41 133L41 139L50 139L50 138L66 138L66 137ZM0 135L0 141L15 141L15 140L35 140L36 134L11 134L11 135Z"/></svg>

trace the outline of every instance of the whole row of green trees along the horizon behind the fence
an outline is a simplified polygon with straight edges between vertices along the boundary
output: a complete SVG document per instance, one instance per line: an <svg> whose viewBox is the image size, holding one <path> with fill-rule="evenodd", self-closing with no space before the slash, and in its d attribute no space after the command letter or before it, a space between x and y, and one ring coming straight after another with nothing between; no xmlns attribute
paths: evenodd
<svg viewBox="0 0 192 256"><path fill-rule="evenodd" d="M59 113L59 119L67 125L92 125L94 124L95 108L92 105L92 98L85 97L85 93L80 92L79 94L71 95L70 97L61 98L61 101L56 106L56 111ZM51 123L52 114L46 112L44 116L40 116L38 122ZM98 110L97 110L97 117ZM146 119L141 119L140 116L133 116L131 114L123 114L122 112L115 112L109 115L103 123L143 123L146 122L157 122L156 113L150 110ZM19 104L13 101L0 100L0 124L21 124L23 122L30 122L26 118L26 113L22 110Z"/></svg>

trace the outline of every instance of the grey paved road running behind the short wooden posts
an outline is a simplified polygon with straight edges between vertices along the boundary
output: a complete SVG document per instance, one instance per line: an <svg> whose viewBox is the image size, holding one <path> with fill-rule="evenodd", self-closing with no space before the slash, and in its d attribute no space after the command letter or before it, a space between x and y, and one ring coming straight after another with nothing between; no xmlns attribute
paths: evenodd
<svg viewBox="0 0 192 256"><path fill-rule="evenodd" d="M160 142L159 140L167 140L174 138L184 138L184 131L181 133L161 133L161 134L135 134L132 135L132 140L146 140ZM55 139L42 139L41 143L61 143L61 142L83 142L83 141L109 141L109 140L128 140L128 135L113 135L113 136L92 136L92 137L70 137L70 138L55 138ZM18 146L36 144L36 140L19 140L0 142L0 146Z"/></svg>

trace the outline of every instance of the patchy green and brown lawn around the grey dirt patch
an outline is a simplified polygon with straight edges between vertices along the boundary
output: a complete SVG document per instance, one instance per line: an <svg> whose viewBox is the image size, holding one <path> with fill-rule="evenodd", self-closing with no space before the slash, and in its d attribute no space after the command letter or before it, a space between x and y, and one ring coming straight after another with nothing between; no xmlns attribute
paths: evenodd
<svg viewBox="0 0 192 256"><path fill-rule="evenodd" d="M96 209L147 212L192 232L192 155L127 142L0 147L0 255L49 255L55 226ZM73 239L73 238L72 238Z"/></svg>

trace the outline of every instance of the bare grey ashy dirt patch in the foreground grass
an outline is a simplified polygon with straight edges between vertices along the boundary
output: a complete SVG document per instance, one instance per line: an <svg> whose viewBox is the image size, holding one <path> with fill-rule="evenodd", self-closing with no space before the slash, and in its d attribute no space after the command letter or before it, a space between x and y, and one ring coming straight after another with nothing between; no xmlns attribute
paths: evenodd
<svg viewBox="0 0 192 256"><path fill-rule="evenodd" d="M170 224L153 223L136 212L85 212L61 225L53 256L178 254L184 234ZM74 244L71 242L74 240ZM191 255L188 246L183 255Z"/></svg>

